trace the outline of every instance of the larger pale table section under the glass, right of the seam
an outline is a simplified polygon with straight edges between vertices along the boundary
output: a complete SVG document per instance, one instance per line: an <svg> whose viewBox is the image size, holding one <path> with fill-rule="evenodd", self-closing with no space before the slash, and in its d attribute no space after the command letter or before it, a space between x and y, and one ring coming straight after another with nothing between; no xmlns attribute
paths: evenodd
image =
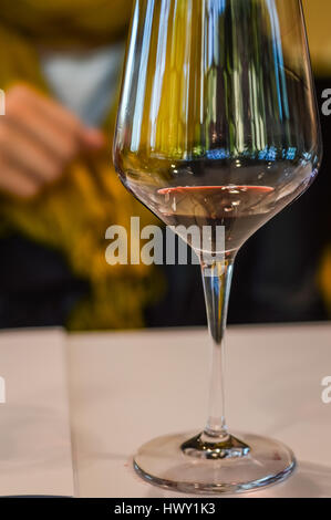
<svg viewBox="0 0 331 520"><path fill-rule="evenodd" d="M205 331L82 334L69 339L71 413L81 497L183 497L132 469L154 436L199 430L206 418ZM331 325L234 327L227 339L230 427L278 438L299 468L250 497L331 497Z"/></svg>

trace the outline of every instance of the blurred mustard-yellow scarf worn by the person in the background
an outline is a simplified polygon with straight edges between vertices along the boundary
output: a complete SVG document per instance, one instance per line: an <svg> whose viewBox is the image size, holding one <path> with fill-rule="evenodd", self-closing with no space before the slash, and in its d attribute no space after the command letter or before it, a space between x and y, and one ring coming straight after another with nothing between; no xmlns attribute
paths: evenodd
<svg viewBox="0 0 331 520"><path fill-rule="evenodd" d="M131 0L0 0L0 89L27 82L48 92L37 45L91 46L123 38L131 8ZM111 165L114 114L105 124L107 153L72 164L63 181L37 200L1 204L2 221L62 251L72 271L91 282L91 297L70 316L71 330L142 326L144 308L163 287L154 268L105 261L108 226L130 231L131 216L139 216L142 226L153 221Z"/></svg>

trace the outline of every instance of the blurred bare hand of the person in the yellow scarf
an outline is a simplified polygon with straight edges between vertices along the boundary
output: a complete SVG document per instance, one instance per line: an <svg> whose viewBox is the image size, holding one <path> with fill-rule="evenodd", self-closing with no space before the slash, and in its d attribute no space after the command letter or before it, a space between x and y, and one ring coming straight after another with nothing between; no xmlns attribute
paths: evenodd
<svg viewBox="0 0 331 520"><path fill-rule="evenodd" d="M61 178L83 150L104 146L103 134L25 85L6 95L0 117L0 190L30 199Z"/></svg>

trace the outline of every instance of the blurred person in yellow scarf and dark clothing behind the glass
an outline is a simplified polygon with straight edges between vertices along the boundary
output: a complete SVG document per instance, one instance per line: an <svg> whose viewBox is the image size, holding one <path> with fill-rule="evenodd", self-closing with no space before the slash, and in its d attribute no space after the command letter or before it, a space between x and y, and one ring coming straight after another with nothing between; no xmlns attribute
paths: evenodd
<svg viewBox="0 0 331 520"><path fill-rule="evenodd" d="M108 226L153 221L111 165L132 1L0 11L0 326L142 326L162 277L105 261Z"/></svg>

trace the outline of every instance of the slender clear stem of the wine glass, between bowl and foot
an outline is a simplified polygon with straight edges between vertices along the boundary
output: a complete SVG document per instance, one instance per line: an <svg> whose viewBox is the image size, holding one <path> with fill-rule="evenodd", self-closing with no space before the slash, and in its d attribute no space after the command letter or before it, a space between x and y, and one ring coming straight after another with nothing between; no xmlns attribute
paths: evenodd
<svg viewBox="0 0 331 520"><path fill-rule="evenodd" d="M211 337L211 367L209 415L204 431L205 440L224 441L229 437L225 419L224 362L225 331L235 256L224 261L201 262L209 335Z"/></svg>

